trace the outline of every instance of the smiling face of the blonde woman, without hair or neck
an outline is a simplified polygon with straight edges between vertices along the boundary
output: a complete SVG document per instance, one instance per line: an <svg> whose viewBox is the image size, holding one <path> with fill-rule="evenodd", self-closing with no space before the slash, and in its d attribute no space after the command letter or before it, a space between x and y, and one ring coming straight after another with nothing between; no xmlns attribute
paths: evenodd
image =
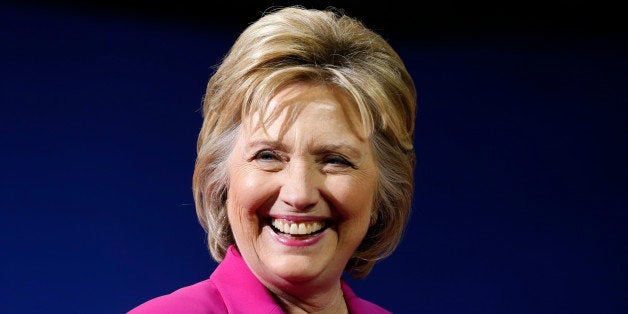
<svg viewBox="0 0 628 314"><path fill-rule="evenodd" d="M296 104L295 104L296 103ZM338 284L369 227L377 169L353 105L324 86L284 88L266 124L244 124L229 159L236 244L266 285ZM323 285L323 286L321 286Z"/></svg>

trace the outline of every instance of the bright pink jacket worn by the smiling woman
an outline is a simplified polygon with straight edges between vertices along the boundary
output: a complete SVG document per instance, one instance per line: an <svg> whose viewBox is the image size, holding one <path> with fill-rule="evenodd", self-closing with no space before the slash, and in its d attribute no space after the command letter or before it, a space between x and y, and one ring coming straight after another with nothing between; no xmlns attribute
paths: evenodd
<svg viewBox="0 0 628 314"><path fill-rule="evenodd" d="M342 292L352 314L391 313L360 299L341 280ZM273 296L249 270L238 250L231 246L209 279L140 304L128 314L148 313L284 313Z"/></svg>

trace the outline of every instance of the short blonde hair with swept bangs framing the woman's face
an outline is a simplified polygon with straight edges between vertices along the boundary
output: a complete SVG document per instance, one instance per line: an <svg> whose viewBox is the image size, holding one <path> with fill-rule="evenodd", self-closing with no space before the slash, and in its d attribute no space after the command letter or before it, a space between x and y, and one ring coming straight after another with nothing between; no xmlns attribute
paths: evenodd
<svg viewBox="0 0 628 314"><path fill-rule="evenodd" d="M363 278L392 254L414 191L416 89L388 42L340 10L277 8L249 25L209 79L193 177L196 213L220 262L235 244L227 219L227 161L245 118L264 112L281 88L326 84L355 104L377 166L372 225L345 271Z"/></svg>

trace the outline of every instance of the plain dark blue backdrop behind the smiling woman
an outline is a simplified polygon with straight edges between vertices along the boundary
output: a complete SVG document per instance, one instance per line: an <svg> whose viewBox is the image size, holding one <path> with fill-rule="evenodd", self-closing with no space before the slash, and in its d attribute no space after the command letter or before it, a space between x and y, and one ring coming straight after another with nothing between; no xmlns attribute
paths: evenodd
<svg viewBox="0 0 628 314"><path fill-rule="evenodd" d="M626 34L347 7L419 90L414 211L358 294L397 313L628 313ZM0 3L0 312L122 313L215 267L191 192L201 97L260 11L176 8Z"/></svg>

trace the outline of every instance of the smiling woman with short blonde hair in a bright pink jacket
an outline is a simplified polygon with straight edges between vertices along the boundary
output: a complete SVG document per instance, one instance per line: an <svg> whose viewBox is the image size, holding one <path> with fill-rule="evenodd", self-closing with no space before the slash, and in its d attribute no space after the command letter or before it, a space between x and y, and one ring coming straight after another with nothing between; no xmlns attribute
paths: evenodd
<svg viewBox="0 0 628 314"><path fill-rule="evenodd" d="M131 313L388 313L357 297L409 217L416 91L378 34L287 7L209 80L193 190L209 279Z"/></svg>

